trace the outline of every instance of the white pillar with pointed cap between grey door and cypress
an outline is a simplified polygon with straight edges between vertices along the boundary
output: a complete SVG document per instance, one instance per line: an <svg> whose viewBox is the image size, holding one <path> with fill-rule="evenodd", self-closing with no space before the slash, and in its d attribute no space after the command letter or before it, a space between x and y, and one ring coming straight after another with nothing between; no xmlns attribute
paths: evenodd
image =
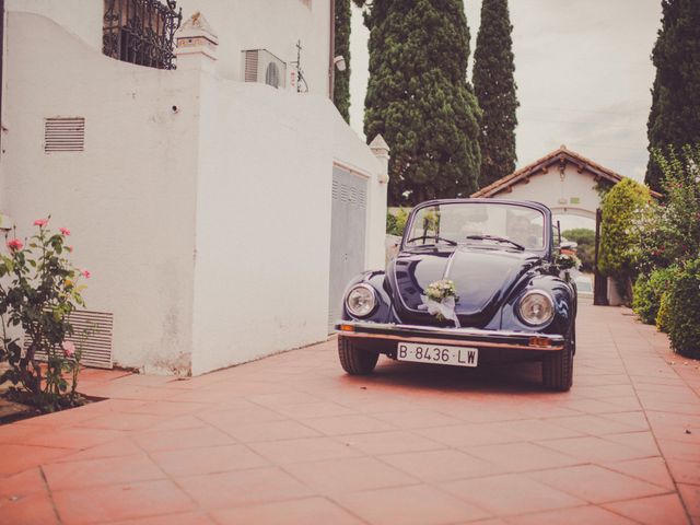
<svg viewBox="0 0 700 525"><path fill-rule="evenodd" d="M372 212L370 215L370 250L368 269L380 270L386 266L386 191L389 183L389 147L381 135L370 143L370 149L380 164L372 179Z"/></svg>

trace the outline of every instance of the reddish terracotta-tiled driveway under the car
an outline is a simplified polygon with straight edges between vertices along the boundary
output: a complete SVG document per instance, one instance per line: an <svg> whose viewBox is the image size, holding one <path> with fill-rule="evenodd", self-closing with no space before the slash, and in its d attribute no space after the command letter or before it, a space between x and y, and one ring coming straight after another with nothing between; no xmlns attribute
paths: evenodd
<svg viewBox="0 0 700 525"><path fill-rule="evenodd" d="M0 428L0 524L700 523L700 371L583 305L574 388L529 364L380 362L335 341ZM691 517L695 516L695 517Z"/></svg>

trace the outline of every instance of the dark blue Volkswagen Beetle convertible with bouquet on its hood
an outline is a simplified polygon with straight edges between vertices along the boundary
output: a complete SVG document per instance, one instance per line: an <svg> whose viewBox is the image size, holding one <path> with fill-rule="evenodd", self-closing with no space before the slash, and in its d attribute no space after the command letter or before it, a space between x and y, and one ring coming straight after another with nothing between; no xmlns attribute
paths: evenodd
<svg viewBox="0 0 700 525"><path fill-rule="evenodd" d="M568 390L576 291L555 255L551 212L538 202L417 206L386 271L346 290L335 326L342 368L368 374L380 353L460 366L525 358L541 361L547 388Z"/></svg>

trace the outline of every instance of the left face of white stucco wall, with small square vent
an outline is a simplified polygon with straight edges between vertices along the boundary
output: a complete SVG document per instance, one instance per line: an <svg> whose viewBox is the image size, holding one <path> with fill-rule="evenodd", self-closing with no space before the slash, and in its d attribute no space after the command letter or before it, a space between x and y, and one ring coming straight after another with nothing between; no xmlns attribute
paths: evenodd
<svg viewBox="0 0 700 525"><path fill-rule="evenodd" d="M71 230L75 262L93 272L89 310L114 313L118 364L188 369L197 77L112 60L43 16L7 16L2 211L21 236L47 213ZM85 151L44 153L56 116L85 118Z"/></svg>

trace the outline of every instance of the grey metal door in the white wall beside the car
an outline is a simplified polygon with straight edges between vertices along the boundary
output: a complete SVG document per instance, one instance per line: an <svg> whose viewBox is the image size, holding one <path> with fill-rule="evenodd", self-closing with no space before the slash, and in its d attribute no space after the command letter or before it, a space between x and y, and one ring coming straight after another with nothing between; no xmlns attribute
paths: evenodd
<svg viewBox="0 0 700 525"><path fill-rule="evenodd" d="M364 270L368 182L339 166L332 167L330 219L330 285L328 331L340 317L348 281Z"/></svg>

